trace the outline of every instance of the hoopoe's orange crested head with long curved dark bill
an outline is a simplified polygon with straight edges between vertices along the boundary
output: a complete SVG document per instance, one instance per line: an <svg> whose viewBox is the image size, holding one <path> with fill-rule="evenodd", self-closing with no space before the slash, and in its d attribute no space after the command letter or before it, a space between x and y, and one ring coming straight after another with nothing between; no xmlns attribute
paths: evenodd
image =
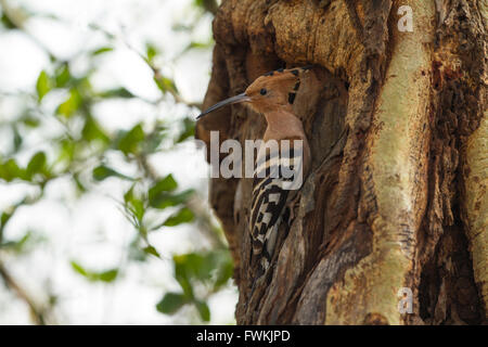
<svg viewBox="0 0 488 347"><path fill-rule="evenodd" d="M258 113L291 108L300 88L300 77L311 66L277 69L258 77L242 94L226 99L203 112L197 118L226 105L246 103Z"/></svg>

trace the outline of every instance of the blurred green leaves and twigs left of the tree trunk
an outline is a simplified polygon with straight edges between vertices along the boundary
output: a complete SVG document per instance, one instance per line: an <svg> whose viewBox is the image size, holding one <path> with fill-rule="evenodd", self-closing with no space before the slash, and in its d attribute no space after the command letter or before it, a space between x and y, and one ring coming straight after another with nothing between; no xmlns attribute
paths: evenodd
<svg viewBox="0 0 488 347"><path fill-rule="evenodd" d="M216 1L195 0L194 5L202 13L217 10ZM0 7L1 9L1 7ZM4 10L4 9L3 9ZM33 14L30 14L33 15ZM16 23L7 11L1 13L1 30L18 30L25 35L23 26ZM93 30L99 30L97 26ZM198 194L193 189L182 190L174 175L159 175L149 164L151 155L159 151L172 151L179 143L189 141L194 136L194 120L184 118L177 125L168 119L157 119L153 124L140 123L129 130L110 132L94 116L94 107L106 100L136 99L124 87L108 90L94 90L91 83L97 72L97 59L114 50L114 36L104 33L106 42L94 50L80 52L70 60L61 60L46 47L50 64L39 74L34 93L14 95L24 101L25 110L21 116L8 121L0 121L0 129L12 133L10 151L0 150L0 184L26 182L37 187L37 194L28 194L8 209L0 211L0 253L22 253L33 239L30 231L20 240L4 240L3 231L20 207L36 204L43 198L46 187L57 179L68 178L79 194L97 190L98 184L107 179L130 182L130 188L119 192L120 210L137 231L128 254L129 261L145 261L147 257L160 258L162 255L149 241L149 234L160 232L183 223L207 229L200 237L210 237L214 247L198 248L195 252L172 256L174 277L180 285L180 292L162 293L159 303L155 303L159 312L175 314L184 306L193 306L204 322L210 320L207 299L222 290L232 277L233 265L227 249L222 232L208 213L194 208ZM211 40L206 43L192 42L184 50L210 49ZM138 53L154 73L154 82L162 92L162 98L170 97L177 103L188 104L179 94L176 82L160 73L156 65L162 54L156 46L147 43L144 53ZM89 62L84 75L73 74L74 62L82 56ZM61 95L54 112L47 114L46 100L52 94ZM51 99L52 101L53 99ZM167 115L170 118L170 115ZM2 119L2 115L0 115ZM49 150L35 152L26 165L20 164L20 153L26 147L24 139L31 132L41 132L55 120L63 131L44 140ZM123 168L114 167L108 159L112 154L120 154L126 164L136 168L136 174L124 174ZM89 175L87 175L89 172ZM167 218L155 221L151 215L169 209ZM34 247L40 246L35 243ZM0 257L0 266L1 257ZM72 260L73 271L89 282L114 283L124 277L124 266L104 271L90 270L78 261ZM8 270L8 269L3 269ZM12 291L15 291L11 287ZM164 292L162 290L162 292ZM55 300L52 300L55 303ZM37 322L44 322L42 311L34 307ZM54 305L54 304L53 304Z"/></svg>

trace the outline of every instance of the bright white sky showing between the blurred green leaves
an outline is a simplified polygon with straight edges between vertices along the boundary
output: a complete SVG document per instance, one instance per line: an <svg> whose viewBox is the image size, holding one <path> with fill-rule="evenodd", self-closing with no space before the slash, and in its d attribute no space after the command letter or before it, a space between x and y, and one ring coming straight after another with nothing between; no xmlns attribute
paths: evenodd
<svg viewBox="0 0 488 347"><path fill-rule="evenodd" d="M53 14L61 23L38 17L27 23L27 30L46 44L57 57L69 59L87 47L100 47L102 35L93 33L90 24L97 24L120 38L116 50L100 57L101 73L93 77L95 88L124 86L132 93L156 100L159 92L152 80L152 72L123 42L144 52L146 41L163 52L157 61L163 72L172 76L182 97L201 101L204 97L210 69L210 52L193 51L177 61L179 52L191 41L207 41L210 37L211 17L204 18L191 38L188 34L171 30L174 24L191 24L194 12L191 0L24 0L8 1L11 5L24 5L33 13ZM10 31L0 34L0 93L33 91L36 79L49 65L46 53L27 36ZM82 70L86 62L76 67ZM51 99L49 99L51 98ZM48 95L46 107L54 106L60 95ZM0 97L0 117L15 113L18 104ZM193 113L196 113L195 111ZM164 103L154 112L140 100L113 101L99 105L95 116L107 130L129 129L142 119L167 119L188 116L188 108ZM0 119L1 120L1 119ZM55 126L46 131L56 131ZM46 133L44 133L46 134ZM0 144L8 139L1 138ZM42 145L42 138L28 139L33 146L28 158ZM181 158L185 158L184 162ZM120 163L119 158L114 158ZM174 172L183 188L196 187L204 194L207 190L206 163L192 143L178 153L160 154L152 164L160 175ZM30 295L42 299L46 286L59 295L56 314L65 324L174 324L187 323L184 312L176 317L156 311L155 304L165 291L179 291L172 279L169 260L151 259L143 265L129 265L124 277L115 284L89 284L75 273L69 261L75 259L90 269L118 267L133 233L114 201L127 185L117 180L106 180L97 192L75 200L70 184L57 180L49 185L47 198L31 207L22 208L9 223L5 237L16 239L27 230L48 239L23 257L3 259L8 268ZM22 198L31 190L27 184L0 183L0 210ZM194 227L182 226L158 232L152 244L166 258L172 254L195 248ZM198 240L198 243L202 243ZM50 279L50 283L46 280ZM235 287L229 287L210 301L211 323L228 324L234 321ZM30 323L25 304L0 285L0 324Z"/></svg>

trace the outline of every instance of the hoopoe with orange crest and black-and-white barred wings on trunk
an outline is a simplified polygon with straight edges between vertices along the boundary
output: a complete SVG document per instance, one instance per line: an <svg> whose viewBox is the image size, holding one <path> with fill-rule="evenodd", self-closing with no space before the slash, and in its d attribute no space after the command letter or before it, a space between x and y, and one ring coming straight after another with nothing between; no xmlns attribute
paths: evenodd
<svg viewBox="0 0 488 347"><path fill-rule="evenodd" d="M226 105L245 103L266 118L268 126L256 158L248 219L253 248L251 266L257 277L270 266L280 223L286 208L293 216L297 191L310 169L308 140L301 120L293 111L300 77L310 68L270 72L258 77L244 93L218 102L197 117Z"/></svg>

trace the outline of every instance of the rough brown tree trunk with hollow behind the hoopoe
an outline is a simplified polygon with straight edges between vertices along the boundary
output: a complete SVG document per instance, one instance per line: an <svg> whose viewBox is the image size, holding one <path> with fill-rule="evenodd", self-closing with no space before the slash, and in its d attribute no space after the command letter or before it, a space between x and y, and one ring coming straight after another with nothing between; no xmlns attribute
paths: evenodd
<svg viewBox="0 0 488 347"><path fill-rule="evenodd" d="M487 12L486 0L223 1L204 106L314 65L294 103L312 170L254 291L252 179L211 180L237 323L488 321ZM210 130L243 143L265 119L234 105L198 121L197 138Z"/></svg>

